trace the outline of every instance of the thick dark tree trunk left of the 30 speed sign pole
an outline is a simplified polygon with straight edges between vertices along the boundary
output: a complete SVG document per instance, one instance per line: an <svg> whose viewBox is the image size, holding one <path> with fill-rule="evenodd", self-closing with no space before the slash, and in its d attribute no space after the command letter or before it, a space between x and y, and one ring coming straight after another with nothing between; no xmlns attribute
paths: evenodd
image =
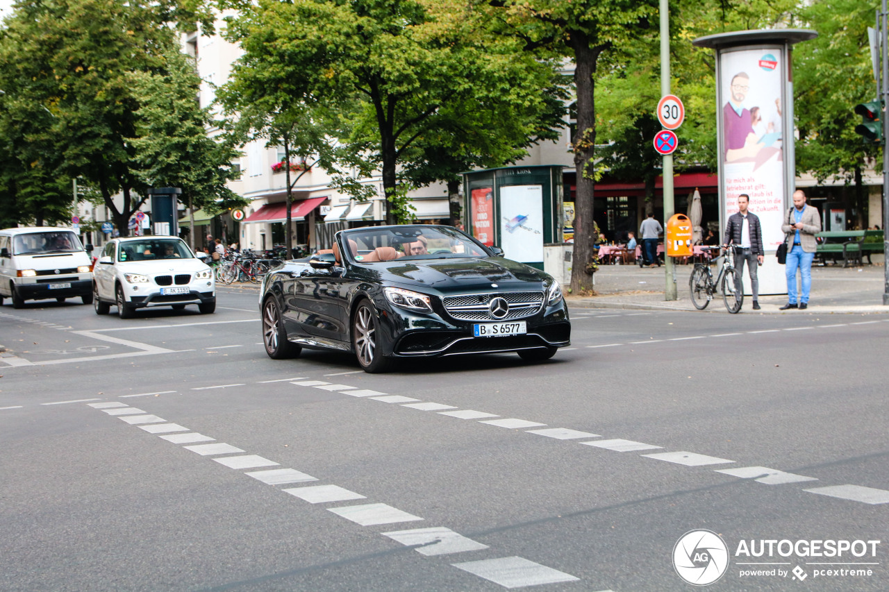
<svg viewBox="0 0 889 592"><path fill-rule="evenodd" d="M596 106L593 75L599 53L605 46L590 47L589 36L571 31L574 51L574 86L577 92L577 136L572 139L576 196L574 197L574 250L571 271L571 292L580 294L593 290L593 157L596 152ZM589 165L589 170L588 170Z"/></svg>

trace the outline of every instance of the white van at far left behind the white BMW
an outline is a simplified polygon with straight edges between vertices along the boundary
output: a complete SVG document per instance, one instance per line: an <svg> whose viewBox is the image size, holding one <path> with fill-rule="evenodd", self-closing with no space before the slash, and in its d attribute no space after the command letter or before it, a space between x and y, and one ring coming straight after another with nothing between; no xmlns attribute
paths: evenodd
<svg viewBox="0 0 889 592"><path fill-rule="evenodd" d="M0 304L76 296L92 303L92 260L70 228L0 230Z"/></svg>

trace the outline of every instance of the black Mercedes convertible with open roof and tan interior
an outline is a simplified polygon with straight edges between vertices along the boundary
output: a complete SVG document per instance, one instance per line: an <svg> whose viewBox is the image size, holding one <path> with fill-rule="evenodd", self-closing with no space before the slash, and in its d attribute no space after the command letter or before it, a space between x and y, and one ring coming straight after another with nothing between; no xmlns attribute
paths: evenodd
<svg viewBox="0 0 889 592"><path fill-rule="evenodd" d="M558 282L447 226L352 228L330 251L269 272L260 290L266 353L354 352L365 372L399 359L570 345Z"/></svg>

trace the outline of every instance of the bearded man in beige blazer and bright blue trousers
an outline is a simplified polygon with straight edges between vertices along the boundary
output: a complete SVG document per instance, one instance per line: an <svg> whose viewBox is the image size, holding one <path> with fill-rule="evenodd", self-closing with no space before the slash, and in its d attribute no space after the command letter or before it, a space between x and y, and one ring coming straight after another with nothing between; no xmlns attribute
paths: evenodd
<svg viewBox="0 0 889 592"><path fill-rule="evenodd" d="M790 235L787 252L787 304L779 310L788 308L805 309L809 306L809 291L812 289L812 261L818 243L815 235L821 232L821 216L818 208L805 204L805 193L797 189L793 192L793 207L784 217L781 231ZM797 268L803 276L803 291L797 300Z"/></svg>

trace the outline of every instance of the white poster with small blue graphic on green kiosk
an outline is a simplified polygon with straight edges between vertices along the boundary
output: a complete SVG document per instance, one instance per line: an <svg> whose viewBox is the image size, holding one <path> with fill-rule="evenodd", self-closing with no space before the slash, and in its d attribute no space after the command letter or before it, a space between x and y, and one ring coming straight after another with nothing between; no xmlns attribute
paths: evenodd
<svg viewBox="0 0 889 592"><path fill-rule="evenodd" d="M543 260L543 187L512 185L501 188L501 249L511 260Z"/></svg>

